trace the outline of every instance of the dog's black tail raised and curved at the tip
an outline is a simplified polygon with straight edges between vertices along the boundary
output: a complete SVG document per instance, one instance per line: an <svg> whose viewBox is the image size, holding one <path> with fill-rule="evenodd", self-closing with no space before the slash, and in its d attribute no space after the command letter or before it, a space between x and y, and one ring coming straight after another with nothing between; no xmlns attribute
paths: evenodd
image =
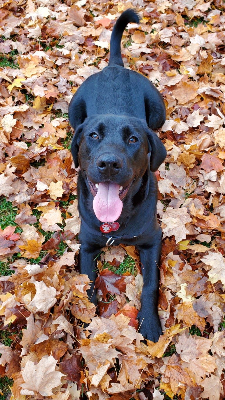
<svg viewBox="0 0 225 400"><path fill-rule="evenodd" d="M125 30L129 22L139 23L140 17L137 12L131 8L124 11L115 23L112 36L110 39L110 58L108 65L116 64L123 66L123 60L121 56L121 39L123 31Z"/></svg>

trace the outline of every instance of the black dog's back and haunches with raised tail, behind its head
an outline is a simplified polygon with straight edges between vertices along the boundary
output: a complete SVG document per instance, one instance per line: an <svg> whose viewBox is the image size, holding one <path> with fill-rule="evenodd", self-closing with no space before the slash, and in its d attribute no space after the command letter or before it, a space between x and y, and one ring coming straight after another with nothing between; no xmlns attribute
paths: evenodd
<svg viewBox="0 0 225 400"><path fill-rule="evenodd" d="M121 38L129 22L139 22L138 14L131 9L121 14L112 30L108 66L89 76L74 94L69 106L74 129L96 114L137 117L147 120L153 130L164 123L165 105L159 91L145 76L124 68Z"/></svg>

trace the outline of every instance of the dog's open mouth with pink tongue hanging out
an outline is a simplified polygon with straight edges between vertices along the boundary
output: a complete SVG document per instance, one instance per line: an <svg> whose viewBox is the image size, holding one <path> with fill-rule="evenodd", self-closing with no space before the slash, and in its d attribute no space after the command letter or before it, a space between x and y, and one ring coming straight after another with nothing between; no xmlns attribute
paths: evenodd
<svg viewBox="0 0 225 400"><path fill-rule="evenodd" d="M94 184L87 178L90 191L94 196L94 214L101 222L115 222L121 215L123 202L131 184L120 186L115 182L106 181Z"/></svg>

